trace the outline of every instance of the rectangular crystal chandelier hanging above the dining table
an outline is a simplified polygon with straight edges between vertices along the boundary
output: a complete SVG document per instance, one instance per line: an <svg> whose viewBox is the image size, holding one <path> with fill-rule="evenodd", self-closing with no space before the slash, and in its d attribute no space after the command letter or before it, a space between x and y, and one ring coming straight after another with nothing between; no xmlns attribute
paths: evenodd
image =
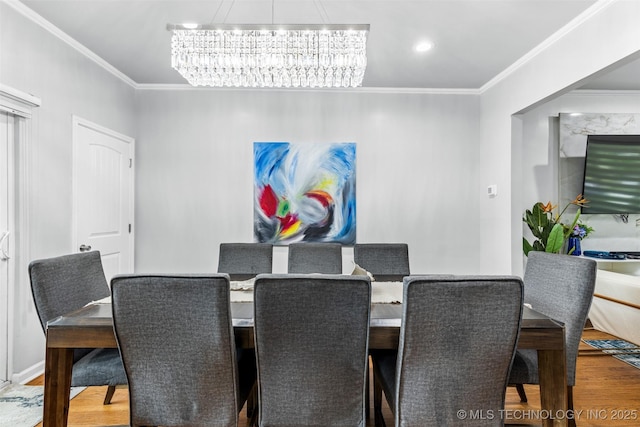
<svg viewBox="0 0 640 427"><path fill-rule="evenodd" d="M358 87L369 25L167 25L171 66L192 86Z"/></svg>

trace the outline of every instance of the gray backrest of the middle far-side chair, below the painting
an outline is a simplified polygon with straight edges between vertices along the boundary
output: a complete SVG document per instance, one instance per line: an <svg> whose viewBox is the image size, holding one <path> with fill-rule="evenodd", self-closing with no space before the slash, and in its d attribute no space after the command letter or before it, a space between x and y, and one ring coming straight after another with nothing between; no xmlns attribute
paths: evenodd
<svg viewBox="0 0 640 427"><path fill-rule="evenodd" d="M341 274L342 245L340 243L291 243L289 273Z"/></svg>

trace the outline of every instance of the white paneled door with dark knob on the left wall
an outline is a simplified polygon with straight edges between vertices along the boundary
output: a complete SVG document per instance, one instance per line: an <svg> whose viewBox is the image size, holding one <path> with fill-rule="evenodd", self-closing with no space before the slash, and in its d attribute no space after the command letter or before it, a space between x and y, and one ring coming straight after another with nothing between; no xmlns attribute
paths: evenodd
<svg viewBox="0 0 640 427"><path fill-rule="evenodd" d="M133 272L134 140L73 118L74 251L100 251L107 280Z"/></svg>

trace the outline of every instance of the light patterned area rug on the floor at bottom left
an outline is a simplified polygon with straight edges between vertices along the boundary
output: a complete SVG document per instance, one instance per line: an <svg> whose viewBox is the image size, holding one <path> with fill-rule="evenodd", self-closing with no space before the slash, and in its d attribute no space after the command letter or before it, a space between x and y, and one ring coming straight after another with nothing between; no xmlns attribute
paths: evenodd
<svg viewBox="0 0 640 427"><path fill-rule="evenodd" d="M73 399L85 387L71 387ZM42 421L44 387L11 384L0 390L0 427L33 427Z"/></svg>

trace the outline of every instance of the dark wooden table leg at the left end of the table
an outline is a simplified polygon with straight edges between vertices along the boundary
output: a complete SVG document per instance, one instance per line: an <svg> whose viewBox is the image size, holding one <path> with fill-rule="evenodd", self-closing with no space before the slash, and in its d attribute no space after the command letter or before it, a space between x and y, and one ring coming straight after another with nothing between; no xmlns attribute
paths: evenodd
<svg viewBox="0 0 640 427"><path fill-rule="evenodd" d="M66 427L73 349L47 347L44 368L43 427Z"/></svg>

